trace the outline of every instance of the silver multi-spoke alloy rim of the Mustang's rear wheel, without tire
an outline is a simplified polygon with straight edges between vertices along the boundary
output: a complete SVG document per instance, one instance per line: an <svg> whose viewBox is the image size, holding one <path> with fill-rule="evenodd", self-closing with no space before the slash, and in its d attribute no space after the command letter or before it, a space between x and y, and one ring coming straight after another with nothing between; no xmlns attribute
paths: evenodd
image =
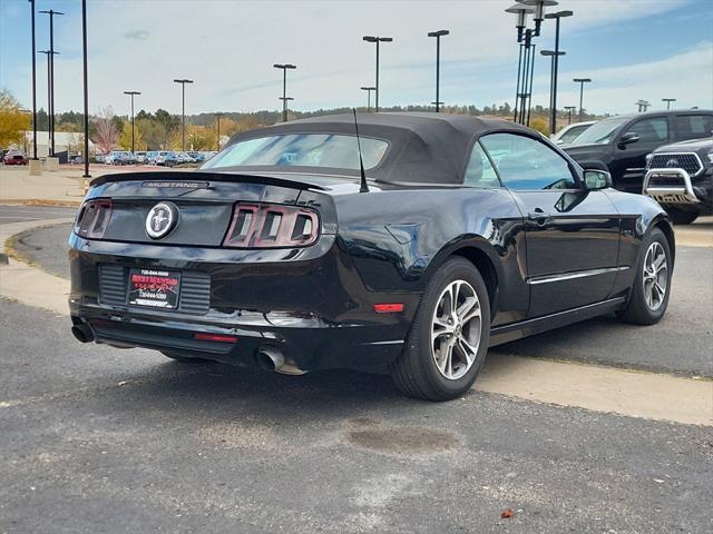
<svg viewBox="0 0 713 534"><path fill-rule="evenodd" d="M450 283L438 298L431 322L431 355L449 380L462 377L476 362L482 332L480 300L465 280Z"/></svg>

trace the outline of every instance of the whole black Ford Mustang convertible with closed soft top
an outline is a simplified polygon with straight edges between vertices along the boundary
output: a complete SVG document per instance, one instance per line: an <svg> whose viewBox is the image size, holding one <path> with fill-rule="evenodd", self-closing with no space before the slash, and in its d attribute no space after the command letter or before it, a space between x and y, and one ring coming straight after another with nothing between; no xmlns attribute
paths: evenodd
<svg viewBox="0 0 713 534"><path fill-rule="evenodd" d="M356 129L358 126L358 129ZM195 171L100 177L70 238L72 332L448 399L489 346L616 312L649 325L674 235L539 134L351 115L241 134Z"/></svg>

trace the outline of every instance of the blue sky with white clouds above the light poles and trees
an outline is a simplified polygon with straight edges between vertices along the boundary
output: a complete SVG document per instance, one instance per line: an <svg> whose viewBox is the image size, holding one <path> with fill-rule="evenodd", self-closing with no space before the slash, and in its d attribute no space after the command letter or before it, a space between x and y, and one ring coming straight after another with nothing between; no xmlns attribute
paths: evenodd
<svg viewBox="0 0 713 534"><path fill-rule="evenodd" d="M381 106L434 100L436 40L441 38L441 100L447 105L514 102L518 46L514 0L88 0L89 108L111 106L186 113L254 111L281 106L282 71L291 107L315 110L364 106L361 86L374 82L374 44L365 34L392 37L381 44ZM36 0L37 49L49 48L55 18L55 108L82 108L81 1ZM596 113L636 110L648 100L676 98L678 108L713 108L713 0L560 0L563 19L558 105L578 103L572 79L592 78L585 108ZM554 22L536 39L533 103L549 101ZM38 55L38 108L47 108L46 56ZM30 4L0 0L0 87L31 107Z"/></svg>

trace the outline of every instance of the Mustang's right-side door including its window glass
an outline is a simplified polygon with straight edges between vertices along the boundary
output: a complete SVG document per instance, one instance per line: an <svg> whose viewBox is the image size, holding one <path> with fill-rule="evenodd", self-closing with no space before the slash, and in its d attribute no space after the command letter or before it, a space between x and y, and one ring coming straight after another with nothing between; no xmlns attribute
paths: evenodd
<svg viewBox="0 0 713 534"><path fill-rule="evenodd" d="M586 190L569 160L540 139L490 134L480 144L526 219L528 317L605 300L619 241L606 192Z"/></svg>

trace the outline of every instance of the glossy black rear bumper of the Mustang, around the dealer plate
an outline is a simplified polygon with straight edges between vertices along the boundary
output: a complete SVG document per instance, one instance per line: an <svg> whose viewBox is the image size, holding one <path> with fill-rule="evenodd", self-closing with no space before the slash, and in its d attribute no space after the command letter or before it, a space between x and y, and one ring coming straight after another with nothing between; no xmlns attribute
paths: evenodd
<svg viewBox="0 0 713 534"><path fill-rule="evenodd" d="M420 297L368 291L335 236L322 236L296 260L289 250L184 249L77 236L70 245L72 322L88 325L98 343L241 366L256 365L264 346L279 348L302 370L384 366L401 352ZM106 265L207 275L209 306L204 313L159 310L129 306L116 295L109 303L99 274ZM404 310L377 314L377 303L403 303Z"/></svg>

